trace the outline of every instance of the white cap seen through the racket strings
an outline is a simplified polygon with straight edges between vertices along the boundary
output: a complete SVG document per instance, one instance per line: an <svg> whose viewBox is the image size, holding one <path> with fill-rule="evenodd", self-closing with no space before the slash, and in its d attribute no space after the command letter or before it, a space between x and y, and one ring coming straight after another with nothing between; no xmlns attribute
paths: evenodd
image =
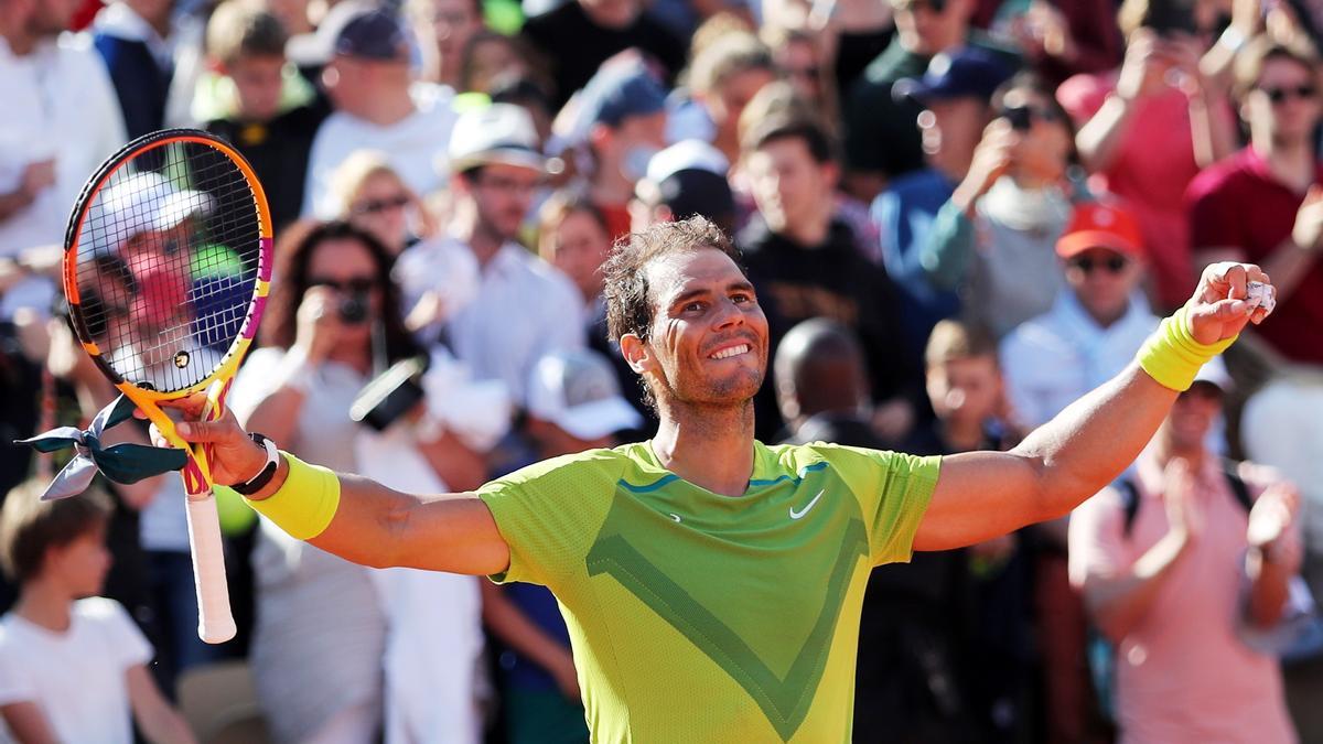
<svg viewBox="0 0 1323 744"><path fill-rule="evenodd" d="M91 230L94 250L119 253L124 242L139 233L168 230L189 216L205 216L214 208L212 195L175 188L160 173L144 171L101 192L83 225Z"/></svg>

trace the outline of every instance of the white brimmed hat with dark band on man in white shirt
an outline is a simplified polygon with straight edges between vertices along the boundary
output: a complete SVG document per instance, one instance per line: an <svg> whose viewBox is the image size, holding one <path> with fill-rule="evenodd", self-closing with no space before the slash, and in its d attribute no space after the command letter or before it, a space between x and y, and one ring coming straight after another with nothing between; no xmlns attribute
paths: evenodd
<svg viewBox="0 0 1323 744"><path fill-rule="evenodd" d="M492 103L464 111L450 135L450 169L454 173L504 163L545 171L546 156L537 146L537 128L528 111L513 103Z"/></svg>

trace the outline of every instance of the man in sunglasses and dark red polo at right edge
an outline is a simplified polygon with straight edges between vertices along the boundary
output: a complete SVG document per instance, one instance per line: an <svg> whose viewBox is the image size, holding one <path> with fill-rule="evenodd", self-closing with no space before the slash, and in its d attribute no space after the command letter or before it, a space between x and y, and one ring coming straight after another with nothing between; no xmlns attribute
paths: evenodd
<svg viewBox="0 0 1323 744"><path fill-rule="evenodd" d="M1189 184L1195 265L1262 265L1278 308L1258 335L1287 361L1323 365L1318 58L1261 37L1237 61L1236 91L1250 142Z"/></svg>

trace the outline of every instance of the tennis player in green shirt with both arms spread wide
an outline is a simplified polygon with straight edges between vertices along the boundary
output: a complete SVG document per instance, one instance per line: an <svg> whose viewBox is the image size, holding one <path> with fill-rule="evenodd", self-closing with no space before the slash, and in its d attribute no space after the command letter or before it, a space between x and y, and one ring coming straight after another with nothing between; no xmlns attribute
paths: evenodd
<svg viewBox="0 0 1323 744"><path fill-rule="evenodd" d="M348 560L549 586L594 741L849 741L869 569L1069 512L1266 315L1257 266L1211 266L1134 364L1008 453L766 446L767 320L737 258L699 217L606 265L610 332L662 418L647 442L411 495L258 446L229 416L180 433L213 445L218 483Z"/></svg>

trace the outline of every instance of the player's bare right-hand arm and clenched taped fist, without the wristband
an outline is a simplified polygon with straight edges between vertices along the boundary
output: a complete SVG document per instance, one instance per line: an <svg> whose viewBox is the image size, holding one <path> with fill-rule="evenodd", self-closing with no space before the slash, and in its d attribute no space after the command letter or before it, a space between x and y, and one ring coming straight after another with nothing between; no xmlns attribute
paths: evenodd
<svg viewBox="0 0 1323 744"><path fill-rule="evenodd" d="M1204 271L1184 308L1196 343L1233 339L1245 323L1266 316L1245 301L1246 281L1267 283L1267 277L1245 263L1218 263ZM943 458L914 548L957 548L1069 514L1135 459L1176 393L1131 364L1013 450Z"/></svg>

